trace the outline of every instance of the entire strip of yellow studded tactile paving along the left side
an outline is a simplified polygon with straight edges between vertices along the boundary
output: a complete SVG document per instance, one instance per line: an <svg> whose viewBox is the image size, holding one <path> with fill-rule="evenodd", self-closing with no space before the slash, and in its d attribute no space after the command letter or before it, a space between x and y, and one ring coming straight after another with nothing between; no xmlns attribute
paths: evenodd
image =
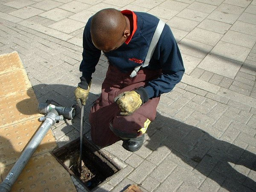
<svg viewBox="0 0 256 192"><path fill-rule="evenodd" d="M0 183L41 125L38 100L17 52L0 55ZM12 192L76 191L69 173L49 153L51 129L12 186Z"/></svg>

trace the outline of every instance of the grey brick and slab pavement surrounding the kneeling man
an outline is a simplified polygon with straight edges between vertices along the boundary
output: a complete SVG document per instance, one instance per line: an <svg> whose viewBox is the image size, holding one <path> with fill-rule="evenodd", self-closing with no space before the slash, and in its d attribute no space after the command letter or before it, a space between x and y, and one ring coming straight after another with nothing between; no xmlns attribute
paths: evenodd
<svg viewBox="0 0 256 192"><path fill-rule="evenodd" d="M19 53L39 102L75 102L83 27L106 7L169 24L186 73L161 96L140 151L104 148L123 169L97 191L256 191L256 0L0 0L0 54ZM102 56L90 102L107 67ZM52 127L59 146L79 137L77 114Z"/></svg>

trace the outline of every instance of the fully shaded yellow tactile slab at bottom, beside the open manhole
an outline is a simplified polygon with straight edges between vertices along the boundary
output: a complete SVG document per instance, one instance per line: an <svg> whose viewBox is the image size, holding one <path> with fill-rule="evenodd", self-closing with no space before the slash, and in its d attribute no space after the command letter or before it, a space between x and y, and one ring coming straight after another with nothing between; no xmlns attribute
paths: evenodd
<svg viewBox="0 0 256 192"><path fill-rule="evenodd" d="M3 177L12 166L0 169ZM76 187L67 170L48 152L29 160L11 192L76 192Z"/></svg>

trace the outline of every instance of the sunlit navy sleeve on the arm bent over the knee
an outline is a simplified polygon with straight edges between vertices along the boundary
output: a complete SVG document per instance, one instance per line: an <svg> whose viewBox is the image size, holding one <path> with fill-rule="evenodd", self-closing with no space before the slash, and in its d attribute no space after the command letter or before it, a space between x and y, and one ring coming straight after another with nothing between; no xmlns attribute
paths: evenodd
<svg viewBox="0 0 256 192"><path fill-rule="evenodd" d="M160 64L162 75L144 87L149 99L169 93L185 72L180 50L168 25L163 29L152 58Z"/></svg>

